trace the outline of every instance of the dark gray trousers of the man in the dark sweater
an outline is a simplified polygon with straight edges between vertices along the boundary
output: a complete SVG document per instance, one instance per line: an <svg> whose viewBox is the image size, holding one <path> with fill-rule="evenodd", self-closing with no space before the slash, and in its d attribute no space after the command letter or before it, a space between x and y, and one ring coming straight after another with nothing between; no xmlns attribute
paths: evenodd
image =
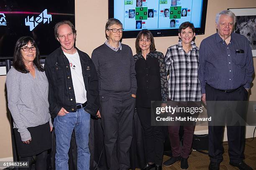
<svg viewBox="0 0 256 170"><path fill-rule="evenodd" d="M133 138L135 98L131 94L100 94L100 114L108 168L130 168L130 146Z"/></svg>

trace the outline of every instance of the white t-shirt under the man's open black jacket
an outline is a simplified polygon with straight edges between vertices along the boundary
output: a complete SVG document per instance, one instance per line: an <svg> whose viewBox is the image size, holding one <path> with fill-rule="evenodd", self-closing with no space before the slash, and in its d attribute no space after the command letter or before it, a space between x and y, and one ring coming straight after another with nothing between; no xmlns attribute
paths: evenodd
<svg viewBox="0 0 256 170"><path fill-rule="evenodd" d="M64 52L64 55L66 55L67 59L69 60L76 102L84 103L87 101L87 98L84 86L84 78L82 75L82 67L78 52L74 54L67 54L66 52Z"/></svg>

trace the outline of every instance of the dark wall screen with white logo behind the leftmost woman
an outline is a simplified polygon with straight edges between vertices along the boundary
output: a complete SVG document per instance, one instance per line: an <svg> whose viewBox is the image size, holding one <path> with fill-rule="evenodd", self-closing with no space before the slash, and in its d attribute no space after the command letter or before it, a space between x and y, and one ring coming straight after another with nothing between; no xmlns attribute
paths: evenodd
<svg viewBox="0 0 256 170"><path fill-rule="evenodd" d="M61 20L75 24L74 0L1 0L0 59L12 57L16 41L22 36L33 37L41 56L47 56L59 42L54 25Z"/></svg>

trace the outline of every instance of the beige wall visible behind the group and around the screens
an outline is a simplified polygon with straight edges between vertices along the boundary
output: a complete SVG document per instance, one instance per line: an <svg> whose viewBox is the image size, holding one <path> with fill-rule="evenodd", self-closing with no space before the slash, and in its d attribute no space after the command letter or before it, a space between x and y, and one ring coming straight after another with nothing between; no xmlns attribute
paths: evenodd
<svg viewBox="0 0 256 170"><path fill-rule="evenodd" d="M215 15L221 10L227 8L256 7L256 0L208 0L207 18L205 35L196 36L197 46L209 35L216 32ZM76 29L77 29L77 47L92 54L92 50L105 42L105 23L108 19L108 0L75 0L76 8ZM95 15L100 11L99 15ZM105 15L103 15L105 14ZM91 18L90 18L91 16ZM167 48L177 44L178 37L156 37L156 49L165 54ZM135 54L135 39L124 39L124 44L129 45ZM254 59L256 63L256 58ZM254 64L256 68L256 65ZM255 84L256 80L253 81ZM10 123L6 111L5 102L5 76L0 76L0 159L12 157L12 148L10 140ZM256 100L256 87L252 88L250 100Z"/></svg>

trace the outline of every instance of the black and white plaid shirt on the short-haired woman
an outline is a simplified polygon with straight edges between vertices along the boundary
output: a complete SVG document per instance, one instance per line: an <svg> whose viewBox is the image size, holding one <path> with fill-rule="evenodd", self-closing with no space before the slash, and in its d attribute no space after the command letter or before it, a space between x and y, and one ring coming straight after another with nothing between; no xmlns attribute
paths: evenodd
<svg viewBox="0 0 256 170"><path fill-rule="evenodd" d="M182 42L168 48L165 55L166 70L170 72L168 80L169 96L173 101L200 101L200 81L197 77L199 67L199 48L191 42L192 49L186 53Z"/></svg>

